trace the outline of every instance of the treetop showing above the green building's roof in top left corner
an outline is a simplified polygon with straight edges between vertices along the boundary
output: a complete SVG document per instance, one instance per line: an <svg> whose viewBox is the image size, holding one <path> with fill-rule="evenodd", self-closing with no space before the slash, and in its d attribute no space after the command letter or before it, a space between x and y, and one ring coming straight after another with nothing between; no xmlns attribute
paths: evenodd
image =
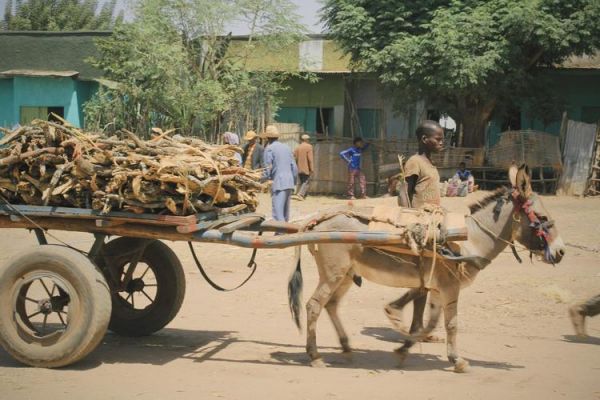
<svg viewBox="0 0 600 400"><path fill-rule="evenodd" d="M6 3L4 29L9 31L109 30L123 20L116 0L12 0Z"/></svg>

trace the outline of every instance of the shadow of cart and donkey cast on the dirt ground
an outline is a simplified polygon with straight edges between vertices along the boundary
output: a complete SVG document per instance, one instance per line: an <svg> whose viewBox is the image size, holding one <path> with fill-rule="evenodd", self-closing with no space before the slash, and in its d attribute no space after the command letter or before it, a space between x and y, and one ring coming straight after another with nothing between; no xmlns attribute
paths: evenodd
<svg viewBox="0 0 600 400"><path fill-rule="evenodd" d="M365 328L370 334L381 340L398 343L391 329ZM249 358L228 358L223 354L231 346L251 346L252 352L262 354ZM256 348L258 347L258 351ZM261 350L264 348L264 351ZM278 349L272 351L273 348ZM411 354L400 368L393 351L355 349L351 358L342 354L338 348L319 347L325 362L332 368L350 368L365 370L428 371L449 369L450 363L437 355ZM270 351L271 350L271 351ZM239 352L238 352L239 354ZM184 329L163 329L152 335L139 338L122 337L108 334L96 350L82 361L65 367L69 370L91 370L102 364L151 364L164 365L177 359L189 359L194 362L226 362L254 365L305 366L310 365L303 345L273 343L261 340L243 339L232 331L195 331ZM468 360L475 368L493 368L512 370L523 368L504 362ZM8 353L0 350L0 367L23 367Z"/></svg>

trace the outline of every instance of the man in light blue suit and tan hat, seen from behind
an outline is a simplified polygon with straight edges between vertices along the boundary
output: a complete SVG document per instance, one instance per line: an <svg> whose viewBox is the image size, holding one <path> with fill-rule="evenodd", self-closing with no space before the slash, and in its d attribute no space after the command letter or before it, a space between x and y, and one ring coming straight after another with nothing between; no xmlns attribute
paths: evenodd
<svg viewBox="0 0 600 400"><path fill-rule="evenodd" d="M265 149L264 180L271 180L271 202L273 219L288 221L290 219L290 199L296 186L298 167L294 161L292 150L279 142L279 131L274 125L268 125L264 137L268 144Z"/></svg>

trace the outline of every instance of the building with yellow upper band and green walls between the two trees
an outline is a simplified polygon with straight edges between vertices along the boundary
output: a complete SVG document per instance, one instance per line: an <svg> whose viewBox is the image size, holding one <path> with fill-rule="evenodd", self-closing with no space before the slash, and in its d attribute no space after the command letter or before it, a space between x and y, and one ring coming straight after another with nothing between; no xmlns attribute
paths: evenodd
<svg viewBox="0 0 600 400"><path fill-rule="evenodd" d="M230 47L241 54L247 42L247 36L235 36ZM256 45L246 56L251 69L303 71L316 78L291 78L275 116L277 122L300 124L311 135L407 139L424 118L422 103L395 112L376 77L353 71L349 57L327 36L310 35L277 51Z"/></svg>

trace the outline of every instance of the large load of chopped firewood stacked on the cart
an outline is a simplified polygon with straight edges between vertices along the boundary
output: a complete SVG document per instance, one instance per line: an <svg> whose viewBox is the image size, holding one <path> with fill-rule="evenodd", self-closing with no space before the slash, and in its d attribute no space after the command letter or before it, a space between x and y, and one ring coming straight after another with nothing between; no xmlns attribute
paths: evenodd
<svg viewBox="0 0 600 400"><path fill-rule="evenodd" d="M155 128L106 137L35 120L0 139L0 193L13 204L190 215L254 210L260 171L242 168L236 146Z"/></svg>

